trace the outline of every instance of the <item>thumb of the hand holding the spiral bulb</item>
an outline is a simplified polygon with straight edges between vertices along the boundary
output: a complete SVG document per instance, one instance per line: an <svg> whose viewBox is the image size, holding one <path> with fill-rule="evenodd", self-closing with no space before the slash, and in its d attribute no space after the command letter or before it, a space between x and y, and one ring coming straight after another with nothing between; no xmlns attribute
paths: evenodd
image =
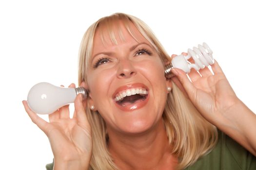
<svg viewBox="0 0 256 170"><path fill-rule="evenodd" d="M196 87L190 82L186 73L178 68L171 69L172 73L177 76L178 80L180 81L181 85L184 87L185 91L188 94L190 99L194 99L196 96L197 89Z"/></svg>

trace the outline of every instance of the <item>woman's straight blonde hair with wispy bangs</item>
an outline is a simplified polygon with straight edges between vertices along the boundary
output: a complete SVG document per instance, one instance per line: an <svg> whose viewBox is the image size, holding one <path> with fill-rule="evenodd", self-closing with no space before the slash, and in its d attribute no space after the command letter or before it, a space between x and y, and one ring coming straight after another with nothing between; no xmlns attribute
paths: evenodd
<svg viewBox="0 0 256 170"><path fill-rule="evenodd" d="M115 21L121 21L133 37L134 35L130 25L134 24L144 38L156 48L163 63L171 61L171 57L163 49L156 36L143 21L127 14L116 13L108 17L100 18L85 32L79 50L79 85L81 82L87 81L86 73L92 55L94 34L100 25L104 25L108 28L112 42L117 44L113 31L114 26L118 27L118 23ZM118 32L118 35L120 39L123 39L120 32ZM104 41L103 36L101 36L101 39ZM190 100L183 95L174 83L172 84L173 90L167 97L162 117L169 138L169 144L172 145L173 154L175 154L179 160L177 169L184 169L195 163L200 156L211 151L217 143L217 129L202 118ZM87 103L86 113L92 127L93 139L90 170L118 170L108 151L108 136L106 134L105 122L98 112L91 111L88 106L89 103Z"/></svg>

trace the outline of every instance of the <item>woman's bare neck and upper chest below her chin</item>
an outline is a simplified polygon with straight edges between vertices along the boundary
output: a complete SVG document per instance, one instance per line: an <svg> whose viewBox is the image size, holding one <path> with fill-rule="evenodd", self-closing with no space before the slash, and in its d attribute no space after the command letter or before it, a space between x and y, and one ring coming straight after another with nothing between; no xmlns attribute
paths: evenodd
<svg viewBox="0 0 256 170"><path fill-rule="evenodd" d="M143 134L127 135L108 129L109 151L121 170L171 170L177 164L163 120Z"/></svg>

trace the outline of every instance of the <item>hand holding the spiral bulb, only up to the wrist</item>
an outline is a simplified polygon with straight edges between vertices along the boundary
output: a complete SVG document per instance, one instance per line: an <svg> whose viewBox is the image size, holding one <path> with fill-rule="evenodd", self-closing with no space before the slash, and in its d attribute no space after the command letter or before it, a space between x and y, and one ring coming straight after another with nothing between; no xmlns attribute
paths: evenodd
<svg viewBox="0 0 256 170"><path fill-rule="evenodd" d="M182 53L187 55L187 53ZM172 55L175 57L176 55ZM180 83L183 85L189 99L196 106L201 115L215 124L222 114L225 114L232 106L239 102L238 98L217 61L209 68L199 70L191 69L186 73L178 68L172 69Z"/></svg>

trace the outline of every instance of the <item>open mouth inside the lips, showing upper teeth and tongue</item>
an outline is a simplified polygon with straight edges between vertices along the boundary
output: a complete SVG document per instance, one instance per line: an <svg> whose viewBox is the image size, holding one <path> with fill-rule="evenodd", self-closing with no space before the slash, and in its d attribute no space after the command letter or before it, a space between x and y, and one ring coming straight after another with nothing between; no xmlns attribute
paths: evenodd
<svg viewBox="0 0 256 170"><path fill-rule="evenodd" d="M115 101L120 106L133 105L138 102L143 102L148 97L148 90L142 87L131 88L121 92L115 96Z"/></svg>

